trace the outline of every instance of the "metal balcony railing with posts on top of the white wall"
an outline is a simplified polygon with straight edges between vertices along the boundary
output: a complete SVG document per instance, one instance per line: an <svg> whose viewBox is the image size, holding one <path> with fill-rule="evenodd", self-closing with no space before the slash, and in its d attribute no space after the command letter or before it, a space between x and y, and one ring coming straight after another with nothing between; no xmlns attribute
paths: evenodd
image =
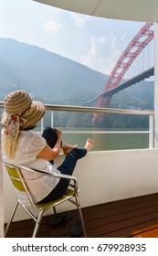
<svg viewBox="0 0 158 256"><path fill-rule="evenodd" d="M78 131L78 130L62 130L63 134L68 133L95 133L95 134L148 134L149 135L149 148L153 148L153 111L141 111L141 110L127 110L127 109L111 109L111 108L96 108L96 107L83 107L83 106L69 106L69 105L53 105L53 104L45 104L46 106L46 112L51 112L50 115L50 125L54 127L54 112L85 112L85 113L94 113L94 112L101 112L101 113L108 113L108 114L128 114L128 115L145 115L149 117L149 129L145 131L129 131L129 130L123 130L123 131L96 131L96 130L84 130L84 131ZM2 101L0 101L0 109L4 108L4 104ZM41 120L40 123L40 133L42 133L43 129L45 127L44 119Z"/></svg>

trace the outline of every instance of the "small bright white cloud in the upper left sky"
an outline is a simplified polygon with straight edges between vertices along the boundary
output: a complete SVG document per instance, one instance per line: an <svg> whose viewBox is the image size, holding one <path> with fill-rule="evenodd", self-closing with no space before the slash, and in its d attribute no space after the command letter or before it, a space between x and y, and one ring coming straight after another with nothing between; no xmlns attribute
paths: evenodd
<svg viewBox="0 0 158 256"><path fill-rule="evenodd" d="M49 20L46 23L43 24L43 29L53 36L56 36L58 34L58 31L62 28L60 23L57 23L54 20Z"/></svg>

